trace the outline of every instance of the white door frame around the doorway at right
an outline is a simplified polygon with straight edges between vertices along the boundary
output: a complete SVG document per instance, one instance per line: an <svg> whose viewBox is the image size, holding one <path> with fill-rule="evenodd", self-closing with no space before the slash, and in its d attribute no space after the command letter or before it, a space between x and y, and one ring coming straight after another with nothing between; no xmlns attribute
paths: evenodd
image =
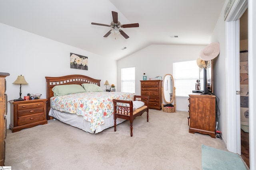
<svg viewBox="0 0 256 170"><path fill-rule="evenodd" d="M254 111L254 96L256 96L256 90L253 88L253 84L256 83L256 2L255 0L236 0L226 18L226 95L227 95L227 149L231 152L241 153L241 137L240 137L240 95L236 95L238 89L239 77L238 72L238 59L239 59L239 19L248 8L248 64L249 64L249 111L250 113L256 113ZM254 57L253 57L254 56ZM254 122L256 122L256 115L249 113L249 145L250 145L250 168L255 169L256 162L256 130Z"/></svg>

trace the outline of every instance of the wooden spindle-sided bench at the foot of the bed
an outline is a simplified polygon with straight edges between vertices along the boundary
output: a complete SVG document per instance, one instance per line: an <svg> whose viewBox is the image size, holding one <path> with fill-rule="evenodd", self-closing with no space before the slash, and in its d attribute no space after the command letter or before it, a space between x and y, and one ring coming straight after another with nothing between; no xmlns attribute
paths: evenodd
<svg viewBox="0 0 256 170"><path fill-rule="evenodd" d="M116 131L116 118L130 120L131 137L132 137L132 123L137 116L141 116L147 112L148 122L148 101L149 96L134 96L134 101L139 100L144 102L144 106L133 110L133 101L116 100L114 99L114 131Z"/></svg>

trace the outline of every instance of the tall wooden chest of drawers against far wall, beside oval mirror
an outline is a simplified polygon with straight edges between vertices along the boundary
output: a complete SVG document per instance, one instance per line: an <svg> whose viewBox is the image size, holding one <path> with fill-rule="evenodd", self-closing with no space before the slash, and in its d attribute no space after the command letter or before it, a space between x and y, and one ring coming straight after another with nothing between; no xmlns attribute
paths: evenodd
<svg viewBox="0 0 256 170"><path fill-rule="evenodd" d="M161 110L162 80L140 80L140 94L149 96L149 108Z"/></svg>

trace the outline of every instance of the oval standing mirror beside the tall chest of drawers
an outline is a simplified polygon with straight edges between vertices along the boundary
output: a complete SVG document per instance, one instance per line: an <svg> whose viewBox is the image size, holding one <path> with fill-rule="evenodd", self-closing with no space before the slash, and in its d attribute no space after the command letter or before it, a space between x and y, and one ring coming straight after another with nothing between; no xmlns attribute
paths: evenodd
<svg viewBox="0 0 256 170"><path fill-rule="evenodd" d="M172 74L166 74L164 76L163 96L164 102L166 102L166 104L172 103L174 99L174 81Z"/></svg>

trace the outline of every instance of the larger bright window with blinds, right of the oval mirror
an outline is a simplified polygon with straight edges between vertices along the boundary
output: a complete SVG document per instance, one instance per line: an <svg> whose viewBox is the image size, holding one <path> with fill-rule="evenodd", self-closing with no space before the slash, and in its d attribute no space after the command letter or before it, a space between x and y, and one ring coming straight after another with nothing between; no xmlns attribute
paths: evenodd
<svg viewBox="0 0 256 170"><path fill-rule="evenodd" d="M194 61L176 62L173 66L175 96L188 97L195 90L196 80L199 79L199 67Z"/></svg>

